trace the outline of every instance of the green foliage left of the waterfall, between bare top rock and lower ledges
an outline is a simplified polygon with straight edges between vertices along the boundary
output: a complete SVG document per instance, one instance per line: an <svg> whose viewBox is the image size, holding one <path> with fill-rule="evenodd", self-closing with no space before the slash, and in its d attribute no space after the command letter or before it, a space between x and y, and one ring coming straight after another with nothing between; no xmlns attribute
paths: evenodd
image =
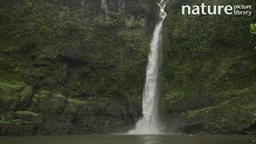
<svg viewBox="0 0 256 144"><path fill-rule="evenodd" d="M70 96L110 96L122 89L117 87L120 83L133 88L132 94L119 94L141 93L141 88L134 90L143 82L148 47L145 29L129 30L123 20L105 20L100 14L87 22L82 9L74 11L50 2L32 6L30 1L20 1L1 10L6 19L1 26L2 79L26 82L35 89L68 89ZM68 71L74 73L66 78L69 81L62 78L63 65L74 69L79 62L88 64ZM111 77L113 81L106 79ZM138 80L135 85L134 80Z"/></svg>

